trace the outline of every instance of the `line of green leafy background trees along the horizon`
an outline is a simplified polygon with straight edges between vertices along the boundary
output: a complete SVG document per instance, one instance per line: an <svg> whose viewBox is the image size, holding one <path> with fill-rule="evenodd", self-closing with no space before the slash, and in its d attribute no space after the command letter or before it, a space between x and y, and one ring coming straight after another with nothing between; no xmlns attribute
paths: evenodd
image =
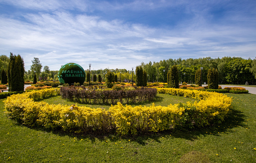
<svg viewBox="0 0 256 163"><path fill-rule="evenodd" d="M10 62L10 57L6 55L0 56L0 71L1 77L7 75L7 65ZM249 84L256 84L256 57L254 60L251 58L243 59L241 57L229 57L225 56L222 58L188 58L188 59L172 59L161 60L159 62L142 62L139 66L142 68L141 71L136 72L134 69L98 69L91 70L90 75L87 77L87 81L106 81L106 75L108 72L112 73L113 81L139 81L140 78L144 78L144 82L165 82L169 78L167 73L171 70L171 67L176 65L178 72L178 81L186 83L196 83L195 76L196 72L202 67L202 82L208 82L207 74L209 69L217 69L218 71L218 84L245 84L247 81ZM136 67L136 69L137 69ZM43 68L43 71L42 71ZM164 71L165 70L165 71ZM4 72L2 72L4 71ZM85 70L89 72L89 69ZM132 73L133 72L133 73ZM140 75L136 75L140 73ZM3 75L2 75L3 74ZM144 76L146 74L146 76ZM33 81L34 76L38 81L40 80L55 80L58 81L58 71L50 71L48 66L42 66L39 58L34 57L30 70L24 72L25 81ZM137 79L139 77L139 79ZM100 79L99 79L100 78ZM4 79L4 78L3 78ZM117 79L117 80L116 80ZM5 79L3 80L5 81Z"/></svg>

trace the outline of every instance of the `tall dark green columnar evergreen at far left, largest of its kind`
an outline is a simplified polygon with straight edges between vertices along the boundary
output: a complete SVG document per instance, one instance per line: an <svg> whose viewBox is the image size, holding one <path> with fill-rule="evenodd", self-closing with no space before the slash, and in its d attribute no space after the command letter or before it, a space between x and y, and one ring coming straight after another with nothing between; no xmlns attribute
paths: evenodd
<svg viewBox="0 0 256 163"><path fill-rule="evenodd" d="M10 53L10 61L7 66L8 91L24 91L24 73L23 58Z"/></svg>

